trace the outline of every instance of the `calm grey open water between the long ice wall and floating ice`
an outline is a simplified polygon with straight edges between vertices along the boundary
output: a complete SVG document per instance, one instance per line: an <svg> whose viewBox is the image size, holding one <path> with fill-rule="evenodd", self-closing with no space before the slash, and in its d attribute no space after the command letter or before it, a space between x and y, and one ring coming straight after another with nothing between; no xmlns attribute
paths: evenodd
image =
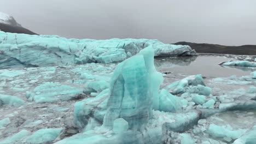
<svg viewBox="0 0 256 144"><path fill-rule="evenodd" d="M223 67L220 62L236 61L227 56L198 56L178 58L156 58L155 67L159 71L170 71L173 74L195 75L206 77L228 77L231 75L249 75L255 68Z"/></svg>

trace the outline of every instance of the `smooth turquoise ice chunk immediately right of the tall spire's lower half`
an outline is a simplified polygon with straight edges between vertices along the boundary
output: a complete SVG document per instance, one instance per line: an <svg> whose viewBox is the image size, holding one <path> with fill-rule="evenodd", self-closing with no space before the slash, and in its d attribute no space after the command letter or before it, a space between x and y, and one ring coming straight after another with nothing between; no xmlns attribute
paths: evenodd
<svg viewBox="0 0 256 144"><path fill-rule="evenodd" d="M162 89L159 94L159 111L176 112L181 110L182 102L178 97Z"/></svg>

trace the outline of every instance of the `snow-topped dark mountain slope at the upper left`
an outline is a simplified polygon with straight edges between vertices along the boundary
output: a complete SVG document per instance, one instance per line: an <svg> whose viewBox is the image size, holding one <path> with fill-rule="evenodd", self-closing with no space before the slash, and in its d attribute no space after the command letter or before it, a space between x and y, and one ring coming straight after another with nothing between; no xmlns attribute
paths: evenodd
<svg viewBox="0 0 256 144"><path fill-rule="evenodd" d="M13 16L0 12L0 31L9 33L36 34L16 22Z"/></svg>

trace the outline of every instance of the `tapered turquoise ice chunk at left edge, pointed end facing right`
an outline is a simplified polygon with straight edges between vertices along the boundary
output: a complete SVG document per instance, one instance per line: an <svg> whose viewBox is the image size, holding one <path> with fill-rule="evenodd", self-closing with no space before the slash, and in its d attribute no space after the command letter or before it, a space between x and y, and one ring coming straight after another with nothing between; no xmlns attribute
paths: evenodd
<svg viewBox="0 0 256 144"><path fill-rule="evenodd" d="M25 101L11 95L5 95L5 94L0 94L0 105L12 105L12 106L20 106L24 104Z"/></svg>

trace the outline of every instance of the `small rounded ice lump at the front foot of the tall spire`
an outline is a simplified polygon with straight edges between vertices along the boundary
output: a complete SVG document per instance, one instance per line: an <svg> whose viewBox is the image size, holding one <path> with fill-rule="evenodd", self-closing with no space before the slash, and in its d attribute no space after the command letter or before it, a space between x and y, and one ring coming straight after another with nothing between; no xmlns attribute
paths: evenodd
<svg viewBox="0 0 256 144"><path fill-rule="evenodd" d="M116 134L124 133L129 129L129 124L124 120L124 118L115 119L113 124L113 131Z"/></svg>

